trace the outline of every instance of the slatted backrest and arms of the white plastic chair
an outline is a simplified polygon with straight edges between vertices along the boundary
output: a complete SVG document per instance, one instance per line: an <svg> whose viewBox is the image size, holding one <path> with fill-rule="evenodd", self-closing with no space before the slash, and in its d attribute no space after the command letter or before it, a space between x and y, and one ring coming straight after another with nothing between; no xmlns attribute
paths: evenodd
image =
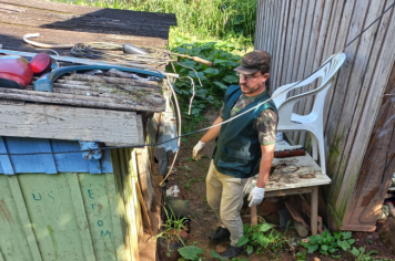
<svg viewBox="0 0 395 261"><path fill-rule="evenodd" d="M332 85L333 77L338 71L338 69L342 66L344 61L345 61L344 53L332 55L325 61L325 63L323 63L320 70L317 70L314 74L310 75L307 79L303 80L297 84L291 83L278 87L272 95L273 102L277 106L278 113L280 111L286 111L288 112L291 117L293 106L296 102L298 102L302 98L305 98L306 96L311 96L315 94L317 94L317 96L315 98L312 111L315 112L322 111L325 103L325 96ZM291 92L292 90L306 86L320 77L322 77L322 82L320 86L317 86L316 88L286 98L287 93Z"/></svg>

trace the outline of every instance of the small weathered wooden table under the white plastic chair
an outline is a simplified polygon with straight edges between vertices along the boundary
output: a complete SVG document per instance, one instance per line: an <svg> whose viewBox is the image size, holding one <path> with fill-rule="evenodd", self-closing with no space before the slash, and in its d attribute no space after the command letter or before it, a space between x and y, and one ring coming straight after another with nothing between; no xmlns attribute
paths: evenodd
<svg viewBox="0 0 395 261"><path fill-rule="evenodd" d="M308 167L311 170L317 170L315 178L300 179L295 184L285 184L281 187L266 186L265 198L296 195L296 194L311 194L311 229L312 234L317 234L317 217L318 217L318 186L331 184L330 177L321 173L320 166L314 159L306 154L305 156L274 158L273 165L278 164L278 160L293 160L297 167ZM297 160L297 161L296 161ZM255 187L257 176L247 188L247 194ZM257 223L256 206L251 208L251 223Z"/></svg>

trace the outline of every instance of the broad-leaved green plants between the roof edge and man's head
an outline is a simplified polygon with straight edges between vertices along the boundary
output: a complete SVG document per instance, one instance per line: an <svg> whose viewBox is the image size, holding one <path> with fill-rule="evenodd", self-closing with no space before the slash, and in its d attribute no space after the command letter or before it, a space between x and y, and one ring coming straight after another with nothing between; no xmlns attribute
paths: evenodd
<svg viewBox="0 0 395 261"><path fill-rule="evenodd" d="M182 106L183 117L188 122L196 122L195 118L202 115L206 106L220 107L227 86L239 83L239 77L235 76L233 69L239 65L241 54L245 50L237 49L229 42L202 41L191 43L183 38L176 38L173 45L172 52L213 61L213 67L195 63L185 58L181 58L179 63L174 64L175 72L180 76L189 76L195 84L191 115L186 114L193 95L191 82L181 79L175 82L174 90ZM168 71L172 71L172 67L168 67ZM193 125L195 126L196 123ZM191 129L185 127L183 130Z"/></svg>

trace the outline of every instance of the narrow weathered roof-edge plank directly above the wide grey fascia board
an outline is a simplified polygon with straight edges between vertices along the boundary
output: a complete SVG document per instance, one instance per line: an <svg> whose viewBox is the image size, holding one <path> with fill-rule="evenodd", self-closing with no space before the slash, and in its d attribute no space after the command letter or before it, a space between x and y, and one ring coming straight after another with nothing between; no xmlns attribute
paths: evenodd
<svg viewBox="0 0 395 261"><path fill-rule="evenodd" d="M162 112L164 103L140 102L105 97L92 97L63 93L34 92L0 87L0 98L26 102L64 104L80 107L113 108L123 111Z"/></svg>

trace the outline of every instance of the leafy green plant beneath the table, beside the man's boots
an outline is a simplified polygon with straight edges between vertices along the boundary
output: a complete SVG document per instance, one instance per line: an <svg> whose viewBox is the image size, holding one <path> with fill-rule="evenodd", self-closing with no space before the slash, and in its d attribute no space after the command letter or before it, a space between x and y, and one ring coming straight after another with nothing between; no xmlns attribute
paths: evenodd
<svg viewBox="0 0 395 261"><path fill-rule="evenodd" d="M256 254L261 252L273 252L290 246L290 240L273 229L273 225L264 222L255 226L244 225L244 236L240 238L237 247L245 247L247 254L256 249Z"/></svg>

